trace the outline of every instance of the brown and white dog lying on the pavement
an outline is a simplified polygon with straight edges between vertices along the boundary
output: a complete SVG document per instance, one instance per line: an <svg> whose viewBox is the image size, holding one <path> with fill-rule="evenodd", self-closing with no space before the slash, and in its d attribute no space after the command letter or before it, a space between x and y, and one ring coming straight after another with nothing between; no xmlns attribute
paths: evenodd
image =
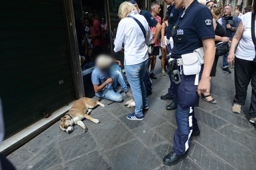
<svg viewBox="0 0 256 170"><path fill-rule="evenodd" d="M91 122L99 123L100 120L91 118L91 116L88 115L91 113L92 109L94 109L94 107L96 107L97 105L104 107L104 105L100 103L100 101L94 101L93 99L87 97L83 97L77 100L74 103L74 105L70 108L68 113L61 118L59 127L62 129L62 131L72 133L72 131L74 131L73 124L77 124L81 126L81 128L83 128L84 132L87 132L88 129L82 122L82 120L84 118L87 118L91 120Z"/></svg>

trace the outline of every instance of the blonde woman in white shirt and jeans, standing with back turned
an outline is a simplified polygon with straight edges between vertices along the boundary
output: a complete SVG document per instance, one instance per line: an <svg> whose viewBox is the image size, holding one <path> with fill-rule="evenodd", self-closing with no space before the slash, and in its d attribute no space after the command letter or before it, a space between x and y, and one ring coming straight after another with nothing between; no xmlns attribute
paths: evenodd
<svg viewBox="0 0 256 170"><path fill-rule="evenodd" d="M126 118L143 120L143 109L148 109L143 76L147 70L147 44L152 41L152 33L147 20L137 12L132 3L127 1L121 3L118 16L121 20L117 27L114 51L124 50L124 68L136 105L135 112ZM138 22L140 22L141 27ZM124 44L124 48L122 48L122 44Z"/></svg>

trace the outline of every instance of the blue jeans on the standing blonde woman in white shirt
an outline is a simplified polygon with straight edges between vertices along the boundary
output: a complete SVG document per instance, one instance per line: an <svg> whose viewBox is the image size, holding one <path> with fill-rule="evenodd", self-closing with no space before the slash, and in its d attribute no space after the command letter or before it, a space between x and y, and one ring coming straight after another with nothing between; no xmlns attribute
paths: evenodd
<svg viewBox="0 0 256 170"><path fill-rule="evenodd" d="M139 116L143 116L143 107L147 107L146 90L143 83L143 77L147 70L148 60L143 61L137 65L125 65L126 75L130 88L132 89L132 95L135 101L135 112Z"/></svg>

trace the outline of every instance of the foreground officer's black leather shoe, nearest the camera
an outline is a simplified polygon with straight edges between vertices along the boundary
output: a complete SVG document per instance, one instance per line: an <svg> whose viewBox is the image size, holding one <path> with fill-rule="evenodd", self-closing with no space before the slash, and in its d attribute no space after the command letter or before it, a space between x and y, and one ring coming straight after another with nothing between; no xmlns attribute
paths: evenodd
<svg viewBox="0 0 256 170"><path fill-rule="evenodd" d="M167 154L167 156L162 158L162 163L164 163L165 165L168 165L168 166L176 165L177 163L180 162L180 160L182 158L186 158L187 155L188 155L188 151L186 151L182 155L178 155L174 151L171 151L169 154Z"/></svg>

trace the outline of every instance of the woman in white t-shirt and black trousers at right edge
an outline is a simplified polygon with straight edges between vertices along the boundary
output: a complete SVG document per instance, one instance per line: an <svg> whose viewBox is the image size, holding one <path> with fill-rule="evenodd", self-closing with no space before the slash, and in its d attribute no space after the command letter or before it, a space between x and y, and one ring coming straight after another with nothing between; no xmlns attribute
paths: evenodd
<svg viewBox="0 0 256 170"><path fill-rule="evenodd" d="M227 61L232 64L235 59L235 86L236 96L233 99L232 112L240 114L241 105L246 101L248 84L251 82L251 105L248 114L250 122L256 123L256 58L255 58L255 35L252 36L252 22L255 25L256 0L253 0L253 13L248 12L241 17L241 22L236 31ZM242 38L241 38L242 37ZM253 38L252 38L253 37ZM254 39L254 40L253 40ZM254 42L255 41L255 42ZM236 50L236 46L238 49ZM235 54L236 52L236 54Z"/></svg>

